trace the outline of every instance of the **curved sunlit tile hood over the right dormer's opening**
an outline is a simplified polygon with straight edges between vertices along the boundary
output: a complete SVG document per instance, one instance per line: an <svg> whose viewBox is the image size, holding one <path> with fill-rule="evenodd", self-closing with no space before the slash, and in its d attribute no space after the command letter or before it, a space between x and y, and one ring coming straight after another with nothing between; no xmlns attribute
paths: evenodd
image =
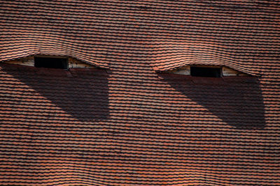
<svg viewBox="0 0 280 186"><path fill-rule="evenodd" d="M195 41L155 44L151 59L151 65L156 72L168 72L186 65L211 65L231 68L247 75L260 75L258 70L252 69L251 65L246 63L241 63L227 47Z"/></svg>

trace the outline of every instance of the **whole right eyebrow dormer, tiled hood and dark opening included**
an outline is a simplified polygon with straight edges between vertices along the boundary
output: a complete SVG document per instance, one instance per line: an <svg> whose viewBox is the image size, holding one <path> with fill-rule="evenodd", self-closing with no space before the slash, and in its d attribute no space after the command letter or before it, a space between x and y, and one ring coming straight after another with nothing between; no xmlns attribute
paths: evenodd
<svg viewBox="0 0 280 186"><path fill-rule="evenodd" d="M214 42L155 42L151 66L155 72L196 77L259 76L255 69L241 65L228 49ZM203 79L203 78L202 78Z"/></svg>

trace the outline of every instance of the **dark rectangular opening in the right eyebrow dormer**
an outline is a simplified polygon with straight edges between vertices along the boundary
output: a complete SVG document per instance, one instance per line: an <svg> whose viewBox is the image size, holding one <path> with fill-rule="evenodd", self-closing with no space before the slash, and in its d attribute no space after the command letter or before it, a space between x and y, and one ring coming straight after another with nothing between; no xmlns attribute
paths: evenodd
<svg viewBox="0 0 280 186"><path fill-rule="evenodd" d="M221 68L190 67L190 75L195 77L221 77Z"/></svg>

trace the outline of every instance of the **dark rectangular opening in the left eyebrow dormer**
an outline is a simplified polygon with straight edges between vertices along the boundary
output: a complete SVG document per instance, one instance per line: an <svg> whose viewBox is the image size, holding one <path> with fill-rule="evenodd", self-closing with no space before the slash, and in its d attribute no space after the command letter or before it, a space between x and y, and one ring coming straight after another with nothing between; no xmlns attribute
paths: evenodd
<svg viewBox="0 0 280 186"><path fill-rule="evenodd" d="M48 58L48 57L34 57L34 65L38 68L61 68L67 69L67 59L63 58Z"/></svg>

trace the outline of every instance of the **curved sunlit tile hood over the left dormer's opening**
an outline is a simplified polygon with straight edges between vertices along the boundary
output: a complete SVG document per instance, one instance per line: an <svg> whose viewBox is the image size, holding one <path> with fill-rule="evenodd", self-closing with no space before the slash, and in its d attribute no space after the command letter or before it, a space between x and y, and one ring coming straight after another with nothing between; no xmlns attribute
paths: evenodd
<svg viewBox="0 0 280 186"><path fill-rule="evenodd" d="M4 32L3 32L4 33ZM4 36L9 33L4 33ZM25 38L27 37L27 38ZM18 40L11 41L10 38L3 37L1 40L1 55L0 61L10 61L15 59L22 59L27 56L68 56L84 63L94 65L97 68L108 68L108 63L102 61L97 63L94 61L92 54L85 54L83 51L75 47L71 47L71 42L65 42L55 36L55 39L42 40L42 38L28 38L24 33L21 33ZM56 40L56 41L54 41Z"/></svg>

